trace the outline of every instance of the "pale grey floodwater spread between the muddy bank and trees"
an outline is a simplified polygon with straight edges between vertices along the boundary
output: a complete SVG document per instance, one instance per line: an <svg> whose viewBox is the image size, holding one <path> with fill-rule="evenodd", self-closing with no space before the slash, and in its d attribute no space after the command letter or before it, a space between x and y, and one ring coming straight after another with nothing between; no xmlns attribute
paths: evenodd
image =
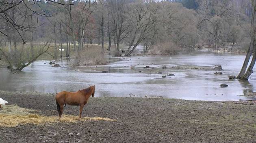
<svg viewBox="0 0 256 143"><path fill-rule="evenodd" d="M141 50L139 46L136 53ZM59 61L62 67L52 67L48 63L44 64L48 61L35 61L16 74L0 69L0 90L57 93L62 90L76 91L95 84L95 96L98 97L162 96L188 100L238 101L246 99L239 95L256 90L255 74L247 82L228 79L228 75L239 73L244 58L245 55L197 50L171 56L109 57L110 63L102 66L71 68L65 67L67 61ZM146 65L154 68L143 69ZM170 68L177 65L221 65L223 74L214 75L214 70ZM162 66L167 69L162 69ZM161 78L167 74L175 76ZM228 87L220 88L220 84L228 84Z"/></svg>

